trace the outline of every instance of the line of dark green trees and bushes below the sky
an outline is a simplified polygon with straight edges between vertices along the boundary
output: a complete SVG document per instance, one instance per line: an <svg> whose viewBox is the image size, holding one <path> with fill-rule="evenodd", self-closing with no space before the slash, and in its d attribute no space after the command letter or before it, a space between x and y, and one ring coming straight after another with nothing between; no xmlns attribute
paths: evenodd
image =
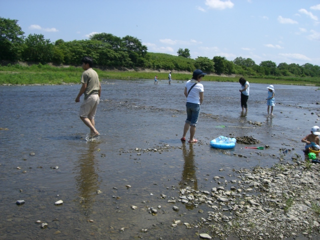
<svg viewBox="0 0 320 240"><path fill-rule="evenodd" d="M193 71L199 68L207 73L241 74L248 76L320 76L320 67L305 63L303 65L285 62L276 65L267 60L256 64L251 58L236 57L227 60L222 56L212 59L198 56L190 58L189 49L179 48L177 56L165 53L147 52L147 47L136 37L118 37L111 33L96 33L87 40L50 42L42 34L24 32L18 20L0 17L0 60L27 61L46 64L79 65L81 57L93 57L100 67L144 67L166 70Z"/></svg>

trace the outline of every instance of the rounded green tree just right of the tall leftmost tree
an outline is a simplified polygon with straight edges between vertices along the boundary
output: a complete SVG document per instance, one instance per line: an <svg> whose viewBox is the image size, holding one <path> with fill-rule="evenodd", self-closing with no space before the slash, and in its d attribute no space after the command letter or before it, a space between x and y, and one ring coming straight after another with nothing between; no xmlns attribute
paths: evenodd
<svg viewBox="0 0 320 240"><path fill-rule="evenodd" d="M51 61L53 55L53 44L49 39L44 39L42 34L29 34L25 38L23 59L35 61L42 64Z"/></svg>

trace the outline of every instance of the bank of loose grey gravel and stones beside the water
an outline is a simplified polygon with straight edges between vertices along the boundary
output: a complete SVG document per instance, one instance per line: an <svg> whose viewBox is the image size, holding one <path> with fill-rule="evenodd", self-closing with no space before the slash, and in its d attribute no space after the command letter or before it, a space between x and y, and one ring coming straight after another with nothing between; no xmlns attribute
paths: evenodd
<svg viewBox="0 0 320 240"><path fill-rule="evenodd" d="M298 156L293 164L234 170L236 177L230 181L214 176L211 189L180 189L180 195L167 201L176 206L205 204L207 212L199 210L202 217L197 224L178 221L171 227L184 224L198 228L199 234L209 229L210 236L220 239L230 234L245 239L282 239L318 233L319 170L319 164Z"/></svg>

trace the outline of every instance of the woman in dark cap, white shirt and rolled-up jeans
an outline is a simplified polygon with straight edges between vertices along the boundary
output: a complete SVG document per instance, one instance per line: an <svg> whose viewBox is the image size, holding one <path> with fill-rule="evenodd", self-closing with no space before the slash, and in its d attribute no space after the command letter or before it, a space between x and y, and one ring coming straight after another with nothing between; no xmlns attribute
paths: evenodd
<svg viewBox="0 0 320 240"><path fill-rule="evenodd" d="M202 77L206 73L200 69L195 69L192 74L191 80L185 83L184 95L186 97L186 120L183 127L183 135L181 141L185 141L185 135L190 128L190 138L188 142L197 142L198 140L193 138L195 133L195 125L198 121L200 113L200 105L203 101L203 85L200 83Z"/></svg>

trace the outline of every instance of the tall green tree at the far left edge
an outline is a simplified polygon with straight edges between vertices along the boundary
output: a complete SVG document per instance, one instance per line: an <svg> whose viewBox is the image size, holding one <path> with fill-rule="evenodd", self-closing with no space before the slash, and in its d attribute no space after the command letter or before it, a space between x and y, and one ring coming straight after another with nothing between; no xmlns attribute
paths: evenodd
<svg viewBox="0 0 320 240"><path fill-rule="evenodd" d="M18 60L23 34L18 20L0 17L0 60Z"/></svg>

